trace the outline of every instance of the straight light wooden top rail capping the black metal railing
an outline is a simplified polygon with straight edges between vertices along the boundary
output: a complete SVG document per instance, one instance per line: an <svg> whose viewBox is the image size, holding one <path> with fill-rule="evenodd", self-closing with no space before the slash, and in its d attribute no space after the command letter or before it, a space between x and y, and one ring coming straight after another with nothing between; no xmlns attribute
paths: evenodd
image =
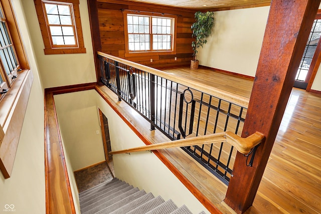
<svg viewBox="0 0 321 214"><path fill-rule="evenodd" d="M240 96L240 95L228 92L228 91L224 91L222 89L218 89L218 88L215 88L215 87L212 87L212 86L200 84L199 82L194 81L194 80L188 80L188 79L185 79L183 77L178 77L178 76L176 76L174 74L170 74L170 73L167 73L167 72L164 72L164 71L161 71L161 70L157 70L157 69L154 69L154 68L151 68L151 67L148 67L148 66L144 66L144 65L141 65L141 64L138 64L138 63L134 63L134 62L131 62L131 61L119 58L119 57L115 57L115 56L112 56L112 55L109 55L109 54L105 54L105 53L102 53L100 51L98 51L97 54L99 56L106 57L106 58L111 59L111 60L115 60L117 62L126 64L128 66L131 66L131 67L134 67L134 68L137 68L137 69L140 69L142 71L146 71L146 72L154 74L156 76L163 77L163 78L166 78L168 80L177 82L179 84L191 87L193 89L199 90L199 91L207 93L209 95L213 95L215 97L218 97L218 98L221 98L221 99L226 100L228 102L237 104L237 105L242 106L244 108L248 107L249 98L247 98L247 97Z"/></svg>

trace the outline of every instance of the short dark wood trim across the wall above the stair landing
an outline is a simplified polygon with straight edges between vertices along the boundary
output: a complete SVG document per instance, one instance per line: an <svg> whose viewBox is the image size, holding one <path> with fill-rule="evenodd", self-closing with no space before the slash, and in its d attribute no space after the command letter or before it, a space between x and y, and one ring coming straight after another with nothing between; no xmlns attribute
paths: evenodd
<svg viewBox="0 0 321 214"><path fill-rule="evenodd" d="M66 93L72 93L77 91L86 91L86 90L95 89L96 85L97 85L97 82L68 85L68 86L58 86L53 88L46 88L45 93L52 92L54 95L57 95L57 94L66 94Z"/></svg>

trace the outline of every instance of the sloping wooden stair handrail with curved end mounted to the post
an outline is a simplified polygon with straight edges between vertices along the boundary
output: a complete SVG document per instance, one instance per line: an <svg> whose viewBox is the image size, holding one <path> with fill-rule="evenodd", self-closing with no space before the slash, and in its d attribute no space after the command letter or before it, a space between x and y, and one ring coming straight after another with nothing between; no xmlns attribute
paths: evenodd
<svg viewBox="0 0 321 214"><path fill-rule="evenodd" d="M242 138L233 132L221 132L215 134L208 134L204 136L191 137L181 140L174 140L164 143L156 143L151 145L139 146L130 149L124 149L119 151L112 151L109 154L121 154L121 153L130 153L137 151L151 151L157 149L173 148L173 147L183 147L183 146L193 146L193 145L202 145L210 143L221 143L226 142L234 146L242 154L247 154L258 145L264 138L264 135L260 132L255 132L254 134Z"/></svg>

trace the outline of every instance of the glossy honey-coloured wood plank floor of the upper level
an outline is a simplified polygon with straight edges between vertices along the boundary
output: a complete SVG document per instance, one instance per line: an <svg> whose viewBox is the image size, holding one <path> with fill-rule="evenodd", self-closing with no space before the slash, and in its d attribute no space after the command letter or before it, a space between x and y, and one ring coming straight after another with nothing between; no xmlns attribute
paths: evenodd
<svg viewBox="0 0 321 214"><path fill-rule="evenodd" d="M252 80L208 69L165 70L250 97ZM152 143L169 139L149 131L149 123L108 89L101 90ZM146 128L147 127L147 128ZM321 213L321 96L293 89L253 206L246 213ZM181 149L162 153L223 213L234 213L223 199L227 186Z"/></svg>

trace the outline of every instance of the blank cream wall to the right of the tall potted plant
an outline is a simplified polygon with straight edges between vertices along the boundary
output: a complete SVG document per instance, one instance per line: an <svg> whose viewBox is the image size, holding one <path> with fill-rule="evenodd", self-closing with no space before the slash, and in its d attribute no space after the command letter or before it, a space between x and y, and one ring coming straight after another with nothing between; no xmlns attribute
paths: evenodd
<svg viewBox="0 0 321 214"><path fill-rule="evenodd" d="M269 7L215 12L208 43L199 50L200 64L255 76Z"/></svg>

